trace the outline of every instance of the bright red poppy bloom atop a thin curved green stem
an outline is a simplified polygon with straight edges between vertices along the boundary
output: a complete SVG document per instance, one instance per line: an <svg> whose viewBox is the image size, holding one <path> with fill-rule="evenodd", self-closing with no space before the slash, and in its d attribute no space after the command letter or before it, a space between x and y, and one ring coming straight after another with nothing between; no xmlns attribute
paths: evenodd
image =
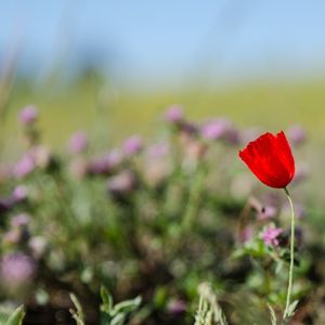
<svg viewBox="0 0 325 325"><path fill-rule="evenodd" d="M262 134L239 152L239 157L264 184L286 187L295 176L295 159L283 131Z"/></svg>

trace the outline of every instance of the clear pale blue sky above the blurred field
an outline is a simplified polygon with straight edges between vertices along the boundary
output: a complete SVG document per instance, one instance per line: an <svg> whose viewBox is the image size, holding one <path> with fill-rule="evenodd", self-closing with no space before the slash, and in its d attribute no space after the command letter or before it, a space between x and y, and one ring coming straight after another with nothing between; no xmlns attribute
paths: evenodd
<svg viewBox="0 0 325 325"><path fill-rule="evenodd" d="M95 55L133 84L303 78L325 72L324 14L298 0L2 1L0 55L18 44L36 74Z"/></svg>

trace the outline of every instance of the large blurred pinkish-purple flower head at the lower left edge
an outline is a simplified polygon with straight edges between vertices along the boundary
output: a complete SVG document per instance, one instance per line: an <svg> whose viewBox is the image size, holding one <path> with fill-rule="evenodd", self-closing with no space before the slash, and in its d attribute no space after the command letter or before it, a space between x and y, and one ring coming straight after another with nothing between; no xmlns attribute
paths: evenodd
<svg viewBox="0 0 325 325"><path fill-rule="evenodd" d="M34 260L22 252L14 252L2 258L0 275L6 286L21 286L29 283L36 271Z"/></svg>

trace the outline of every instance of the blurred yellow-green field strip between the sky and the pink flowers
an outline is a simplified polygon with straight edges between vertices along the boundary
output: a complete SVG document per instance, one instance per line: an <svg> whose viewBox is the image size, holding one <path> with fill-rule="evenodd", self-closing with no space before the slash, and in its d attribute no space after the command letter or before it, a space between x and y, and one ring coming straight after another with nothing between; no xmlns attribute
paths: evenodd
<svg viewBox="0 0 325 325"><path fill-rule="evenodd" d="M26 104L36 104L41 112L40 125L47 143L58 148L70 132L86 129L93 139L109 144L132 133L157 134L161 113L174 103L182 104L193 120L227 116L238 127L261 126L271 131L300 123L316 142L322 141L325 129L323 80L136 93L98 87L88 80L60 91L48 86L34 91L13 88L4 134L8 141L14 141L20 132L17 110Z"/></svg>

